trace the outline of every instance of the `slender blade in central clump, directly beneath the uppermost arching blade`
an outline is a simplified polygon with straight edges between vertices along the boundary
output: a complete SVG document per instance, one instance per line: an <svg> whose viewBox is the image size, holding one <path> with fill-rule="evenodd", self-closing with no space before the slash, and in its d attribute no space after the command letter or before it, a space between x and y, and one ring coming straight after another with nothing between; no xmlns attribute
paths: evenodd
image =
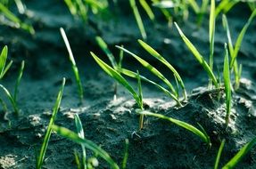
<svg viewBox="0 0 256 169"><path fill-rule="evenodd" d="M122 48L118 45L116 45L117 48L119 48L120 50L123 50L124 52L127 52L128 54L130 54L131 56L133 56L136 60L138 60L145 68L147 68L149 71L151 71L153 73L153 75L158 76L165 84L167 84L169 86L169 89L171 90L172 93L174 93L176 96L178 96L177 91L174 89L173 85L169 82L169 80L163 76L161 74L161 72L156 69L153 68L153 66L151 64L149 64L147 61L141 59L139 56L137 56L135 53L133 52L129 52L127 49Z"/></svg>

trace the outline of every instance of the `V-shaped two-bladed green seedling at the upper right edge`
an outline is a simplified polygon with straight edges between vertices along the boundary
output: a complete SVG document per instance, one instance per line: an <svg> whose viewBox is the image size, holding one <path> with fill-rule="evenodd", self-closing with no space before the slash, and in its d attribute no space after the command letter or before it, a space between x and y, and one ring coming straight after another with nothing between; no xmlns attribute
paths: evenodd
<svg viewBox="0 0 256 169"><path fill-rule="evenodd" d="M237 39L235 41L235 46L233 46L233 43L232 43L231 34L230 34L228 22L227 22L227 17L225 15L223 15L222 17L223 27L226 29L226 32L227 32L228 50L231 57L230 68L234 70L234 74L235 74L235 89L239 88L239 81L242 73L242 65L238 67L236 58L241 48L244 35L247 29L249 28L249 26L251 25L252 20L254 19L255 16L256 16L256 10L252 12L249 20L247 20L246 24L244 25L244 28L242 28L241 32L237 36Z"/></svg>

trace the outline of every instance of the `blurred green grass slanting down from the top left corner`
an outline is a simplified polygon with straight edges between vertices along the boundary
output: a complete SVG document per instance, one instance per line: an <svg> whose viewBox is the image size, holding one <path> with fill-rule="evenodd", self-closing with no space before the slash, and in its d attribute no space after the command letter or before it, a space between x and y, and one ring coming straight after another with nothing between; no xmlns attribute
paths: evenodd
<svg viewBox="0 0 256 169"><path fill-rule="evenodd" d="M4 4L0 3L0 12L2 12L6 19L10 20L12 24L8 24L9 26L14 28L22 28L28 31L31 35L35 34L35 29L24 22L22 22L14 13L12 13Z"/></svg>

